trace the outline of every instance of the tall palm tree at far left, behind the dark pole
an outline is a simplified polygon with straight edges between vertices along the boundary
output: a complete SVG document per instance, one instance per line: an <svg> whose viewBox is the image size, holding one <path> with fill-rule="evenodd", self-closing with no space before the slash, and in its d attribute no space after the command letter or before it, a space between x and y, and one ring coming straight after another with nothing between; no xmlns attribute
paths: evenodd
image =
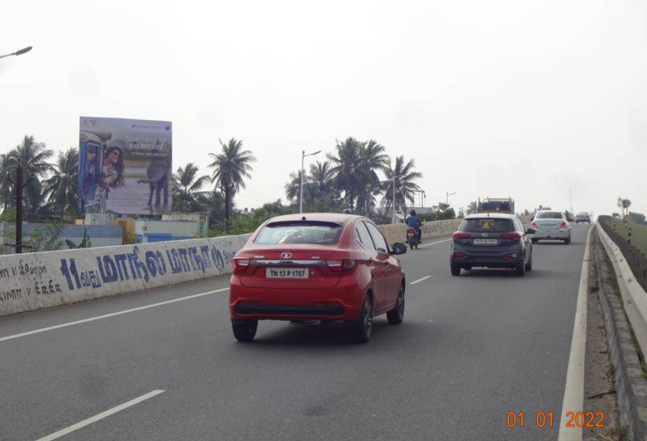
<svg viewBox="0 0 647 441"><path fill-rule="evenodd" d="M10 169L16 167L17 161L20 161L23 167L23 181L28 182L24 189L24 202L29 216L36 216L40 204L43 200L43 186L40 180L45 177L47 172L52 170L52 165L47 160L54 155L54 151L47 149L43 142L36 142L33 136L26 136L22 143L8 153L13 158ZM31 178L31 181L29 180Z"/></svg>

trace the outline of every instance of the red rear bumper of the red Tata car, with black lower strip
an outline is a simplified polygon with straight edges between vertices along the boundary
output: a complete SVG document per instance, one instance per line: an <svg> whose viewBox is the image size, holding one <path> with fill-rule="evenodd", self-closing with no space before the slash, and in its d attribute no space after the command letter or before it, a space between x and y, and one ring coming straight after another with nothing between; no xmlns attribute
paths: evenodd
<svg viewBox="0 0 647 441"><path fill-rule="evenodd" d="M340 283L324 289L229 287L229 313L233 319L356 320L364 289Z"/></svg>

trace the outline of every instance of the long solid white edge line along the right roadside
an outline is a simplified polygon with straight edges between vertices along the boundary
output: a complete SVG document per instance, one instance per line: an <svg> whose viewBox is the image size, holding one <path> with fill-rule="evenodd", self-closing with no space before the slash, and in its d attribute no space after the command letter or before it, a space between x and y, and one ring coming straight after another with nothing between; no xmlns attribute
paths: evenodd
<svg viewBox="0 0 647 441"><path fill-rule="evenodd" d="M591 230L586 236L584 247L584 261L582 262L579 276L579 291L577 292L577 306L575 308L575 324L573 325L573 339L568 357L568 370L566 371L566 386L564 388L564 401L562 403L561 419L559 422L558 441L582 439L582 428L566 427L568 418L566 412L581 412L584 408L584 355L586 350L586 294L588 292L588 260L591 253Z"/></svg>

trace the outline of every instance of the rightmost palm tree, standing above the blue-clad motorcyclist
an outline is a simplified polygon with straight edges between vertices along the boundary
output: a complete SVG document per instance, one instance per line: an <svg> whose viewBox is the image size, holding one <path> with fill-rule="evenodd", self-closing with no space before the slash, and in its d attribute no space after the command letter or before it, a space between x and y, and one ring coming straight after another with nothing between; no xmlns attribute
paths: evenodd
<svg viewBox="0 0 647 441"><path fill-rule="evenodd" d="M415 160L410 159L404 163L404 156L395 158L395 167L391 167L390 161L386 168L386 180L382 181L382 191L384 197L382 204L386 208L393 207L393 177L395 176L395 210L404 213L406 211L406 202L413 205L413 191L420 190L418 184L413 181L423 177L420 172L414 172L416 167Z"/></svg>

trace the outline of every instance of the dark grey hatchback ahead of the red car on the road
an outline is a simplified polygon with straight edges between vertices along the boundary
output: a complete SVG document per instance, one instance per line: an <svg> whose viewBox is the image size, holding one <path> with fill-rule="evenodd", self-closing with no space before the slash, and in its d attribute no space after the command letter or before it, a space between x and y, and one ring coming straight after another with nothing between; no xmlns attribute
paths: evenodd
<svg viewBox="0 0 647 441"><path fill-rule="evenodd" d="M474 267L510 268L525 276L526 271L533 269L533 244L528 238L533 232L526 232L514 214L467 216L452 236L452 276L459 276L461 269Z"/></svg>

